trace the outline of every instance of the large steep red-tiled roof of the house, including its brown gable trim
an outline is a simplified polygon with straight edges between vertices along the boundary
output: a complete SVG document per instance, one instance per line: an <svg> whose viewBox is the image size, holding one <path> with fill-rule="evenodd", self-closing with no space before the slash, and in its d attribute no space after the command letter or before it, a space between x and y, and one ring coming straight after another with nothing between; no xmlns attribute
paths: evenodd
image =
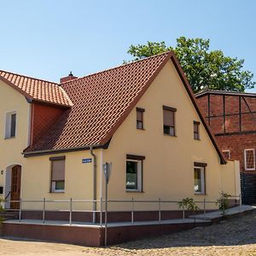
<svg viewBox="0 0 256 256"><path fill-rule="evenodd" d="M172 61L174 64L218 152L221 163L225 163L224 156L197 106L189 82L172 51L60 84L61 86L57 88L67 93L69 100L67 102L72 102L73 106L61 115L44 137L26 148L25 156L80 150L90 146L104 147L167 61ZM12 83L17 82L12 81ZM21 82L18 84L19 88L23 88ZM41 86L40 88L43 88L43 85ZM53 84L54 88L56 86L57 84ZM27 91L27 89L23 90ZM49 91L51 93L52 90ZM47 97L43 96L42 92L39 95Z"/></svg>

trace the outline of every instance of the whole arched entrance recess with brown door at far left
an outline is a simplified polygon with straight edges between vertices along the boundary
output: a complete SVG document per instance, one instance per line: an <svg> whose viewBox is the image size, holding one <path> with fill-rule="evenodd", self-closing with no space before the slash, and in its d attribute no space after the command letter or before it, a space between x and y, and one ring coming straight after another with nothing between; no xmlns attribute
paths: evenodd
<svg viewBox="0 0 256 256"><path fill-rule="evenodd" d="M12 165L6 169L5 194L7 201L20 200L21 166ZM19 202L10 202L6 204L10 209L19 209Z"/></svg>

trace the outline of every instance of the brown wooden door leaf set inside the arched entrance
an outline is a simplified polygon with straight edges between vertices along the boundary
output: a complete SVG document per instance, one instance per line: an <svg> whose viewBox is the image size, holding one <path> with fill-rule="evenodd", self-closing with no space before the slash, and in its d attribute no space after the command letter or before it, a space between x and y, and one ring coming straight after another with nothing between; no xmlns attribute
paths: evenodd
<svg viewBox="0 0 256 256"><path fill-rule="evenodd" d="M20 200L20 180L21 180L21 166L14 166L12 168L12 183L11 183L11 201ZM19 202L11 202L11 209L19 209Z"/></svg>

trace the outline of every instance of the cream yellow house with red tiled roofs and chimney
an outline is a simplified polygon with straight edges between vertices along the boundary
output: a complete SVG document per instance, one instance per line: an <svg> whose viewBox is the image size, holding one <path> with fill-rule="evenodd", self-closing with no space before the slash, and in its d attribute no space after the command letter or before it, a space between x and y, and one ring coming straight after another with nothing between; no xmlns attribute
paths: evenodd
<svg viewBox="0 0 256 256"><path fill-rule="evenodd" d="M60 84L1 71L0 117L6 199L100 200L106 162L112 163L112 200L212 201L221 191L240 194L238 163L218 148L172 52L79 79L70 75Z"/></svg>

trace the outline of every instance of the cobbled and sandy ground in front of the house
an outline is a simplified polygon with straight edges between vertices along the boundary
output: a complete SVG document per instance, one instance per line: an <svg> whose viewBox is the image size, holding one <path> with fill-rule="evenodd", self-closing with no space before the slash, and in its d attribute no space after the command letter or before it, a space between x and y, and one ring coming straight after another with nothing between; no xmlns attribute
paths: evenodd
<svg viewBox="0 0 256 256"><path fill-rule="evenodd" d="M0 255L252 255L256 256L256 211L221 224L107 248L0 239Z"/></svg>

